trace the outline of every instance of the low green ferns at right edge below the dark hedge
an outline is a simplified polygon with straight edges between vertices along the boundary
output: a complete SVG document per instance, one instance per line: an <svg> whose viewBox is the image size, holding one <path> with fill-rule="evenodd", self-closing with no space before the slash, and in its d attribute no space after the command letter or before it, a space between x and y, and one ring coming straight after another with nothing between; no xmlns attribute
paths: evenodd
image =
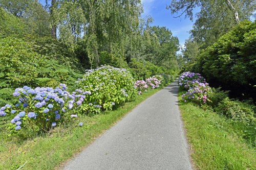
<svg viewBox="0 0 256 170"><path fill-rule="evenodd" d="M231 101L228 98L225 98L218 107L215 108L218 113L224 114L234 121L248 124L255 123L254 109L254 105L240 101Z"/></svg>

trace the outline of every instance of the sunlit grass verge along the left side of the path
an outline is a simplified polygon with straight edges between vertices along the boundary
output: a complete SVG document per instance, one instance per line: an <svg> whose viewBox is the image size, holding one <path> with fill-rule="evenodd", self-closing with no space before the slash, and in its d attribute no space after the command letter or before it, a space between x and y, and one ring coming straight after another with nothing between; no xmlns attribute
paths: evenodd
<svg viewBox="0 0 256 170"><path fill-rule="evenodd" d="M0 169L56 169L63 161L87 147L135 106L160 89L148 90L135 101L125 103L114 111L105 111L92 117L79 118L69 127L58 127L44 136L17 141L0 133ZM78 123L83 122L82 127Z"/></svg>

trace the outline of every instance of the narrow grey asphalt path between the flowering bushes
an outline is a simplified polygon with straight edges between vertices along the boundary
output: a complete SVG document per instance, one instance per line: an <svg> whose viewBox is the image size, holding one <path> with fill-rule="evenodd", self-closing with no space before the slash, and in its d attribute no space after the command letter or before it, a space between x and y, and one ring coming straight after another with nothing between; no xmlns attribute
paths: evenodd
<svg viewBox="0 0 256 170"><path fill-rule="evenodd" d="M138 105L63 169L191 169L177 96L174 82Z"/></svg>

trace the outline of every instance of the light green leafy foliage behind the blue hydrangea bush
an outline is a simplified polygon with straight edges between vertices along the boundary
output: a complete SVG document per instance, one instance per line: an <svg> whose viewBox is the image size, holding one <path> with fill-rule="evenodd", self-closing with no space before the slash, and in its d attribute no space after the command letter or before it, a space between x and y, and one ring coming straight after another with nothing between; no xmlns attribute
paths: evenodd
<svg viewBox="0 0 256 170"><path fill-rule="evenodd" d="M11 99L10 91L24 85L56 87L67 83L74 89L73 82L82 76L69 63L63 65L34 52L32 44L25 40L8 37L2 38L0 44L0 102L6 103Z"/></svg>

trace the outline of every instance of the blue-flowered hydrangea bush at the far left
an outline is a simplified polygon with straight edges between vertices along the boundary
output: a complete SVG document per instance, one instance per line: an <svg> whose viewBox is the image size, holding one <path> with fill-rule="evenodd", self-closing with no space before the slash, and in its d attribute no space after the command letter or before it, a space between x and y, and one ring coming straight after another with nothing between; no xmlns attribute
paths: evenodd
<svg viewBox="0 0 256 170"><path fill-rule="evenodd" d="M56 88L36 87L32 89L28 86L16 88L13 96L19 102L15 106L7 104L2 107L0 116L11 118L9 129L12 132L31 127L37 131L49 131L77 117L71 113L74 109L78 109L84 99L91 94L91 92L79 89L69 93L66 89L65 84L60 84Z"/></svg>

